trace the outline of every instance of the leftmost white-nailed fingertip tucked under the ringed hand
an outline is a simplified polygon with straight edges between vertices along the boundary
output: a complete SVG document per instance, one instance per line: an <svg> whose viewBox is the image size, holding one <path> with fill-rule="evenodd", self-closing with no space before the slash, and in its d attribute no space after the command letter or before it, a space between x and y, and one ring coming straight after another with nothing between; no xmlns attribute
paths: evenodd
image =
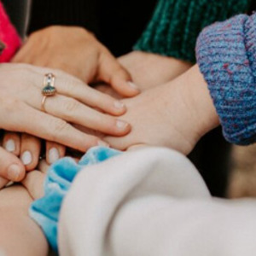
<svg viewBox="0 0 256 256"><path fill-rule="evenodd" d="M20 134L5 131L3 135L3 148L12 154L20 155Z"/></svg>

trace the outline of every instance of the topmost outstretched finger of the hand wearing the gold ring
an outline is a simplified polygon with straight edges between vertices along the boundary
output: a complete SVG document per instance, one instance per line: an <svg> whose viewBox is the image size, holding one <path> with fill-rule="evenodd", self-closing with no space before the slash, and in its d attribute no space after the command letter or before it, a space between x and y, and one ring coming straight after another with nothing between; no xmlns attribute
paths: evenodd
<svg viewBox="0 0 256 256"><path fill-rule="evenodd" d="M47 69L44 69L45 73L46 70ZM49 70L49 72L55 74L55 88L59 94L77 99L79 102L82 102L91 108L100 108L106 113L111 113L113 115L125 113L125 104L114 99L112 96L91 88L89 85L84 84L81 80L76 79L67 73L59 70L54 70L54 72ZM39 77L42 77L42 80L45 73L40 71ZM35 85L42 89L42 83L40 83L41 81L38 81L38 76L34 79Z"/></svg>

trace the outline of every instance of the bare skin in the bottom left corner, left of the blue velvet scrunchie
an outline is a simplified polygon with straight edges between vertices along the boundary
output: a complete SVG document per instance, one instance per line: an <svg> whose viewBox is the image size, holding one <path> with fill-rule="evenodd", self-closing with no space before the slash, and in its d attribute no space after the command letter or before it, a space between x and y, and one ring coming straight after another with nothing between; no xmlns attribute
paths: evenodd
<svg viewBox="0 0 256 256"><path fill-rule="evenodd" d="M6 256L46 256L43 231L28 216L32 197L22 185L0 191L0 253Z"/></svg>

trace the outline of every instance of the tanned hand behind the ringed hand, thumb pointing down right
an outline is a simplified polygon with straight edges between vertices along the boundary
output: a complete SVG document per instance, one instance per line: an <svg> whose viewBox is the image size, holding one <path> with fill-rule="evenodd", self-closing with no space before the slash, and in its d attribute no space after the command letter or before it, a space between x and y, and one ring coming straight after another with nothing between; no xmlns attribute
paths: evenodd
<svg viewBox="0 0 256 256"><path fill-rule="evenodd" d="M122 96L135 96L139 92L125 68L81 27L49 26L34 32L13 61L58 68L87 84L103 81Z"/></svg>

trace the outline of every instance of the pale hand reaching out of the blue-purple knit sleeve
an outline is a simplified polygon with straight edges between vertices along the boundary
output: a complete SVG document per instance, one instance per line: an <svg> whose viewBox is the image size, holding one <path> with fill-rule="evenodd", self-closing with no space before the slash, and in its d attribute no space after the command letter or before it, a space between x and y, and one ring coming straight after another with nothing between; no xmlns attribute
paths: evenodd
<svg viewBox="0 0 256 256"><path fill-rule="evenodd" d="M126 99L123 119L131 124L125 137L105 137L113 148L125 150L148 144L174 148L183 154L219 124L207 84L197 66L167 84Z"/></svg>

